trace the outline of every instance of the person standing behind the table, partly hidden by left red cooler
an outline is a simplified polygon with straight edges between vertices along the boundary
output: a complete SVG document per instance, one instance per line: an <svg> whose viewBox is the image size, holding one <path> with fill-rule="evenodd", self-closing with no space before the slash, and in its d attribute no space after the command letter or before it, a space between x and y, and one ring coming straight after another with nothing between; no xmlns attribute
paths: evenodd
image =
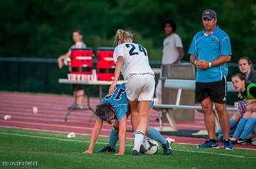
<svg viewBox="0 0 256 169"><path fill-rule="evenodd" d="M80 30L73 31L73 40L75 42L74 45L70 47L68 52L66 54L63 54L58 58L58 67L60 69L63 68L63 61L64 59L70 58L71 49L77 49L77 48L86 48L86 45L84 42L82 42L82 33ZM75 96L75 103L68 107L69 110L83 110L84 107L82 107L82 100L83 96L85 95L85 91L82 89L82 85L73 84L73 91Z"/></svg>

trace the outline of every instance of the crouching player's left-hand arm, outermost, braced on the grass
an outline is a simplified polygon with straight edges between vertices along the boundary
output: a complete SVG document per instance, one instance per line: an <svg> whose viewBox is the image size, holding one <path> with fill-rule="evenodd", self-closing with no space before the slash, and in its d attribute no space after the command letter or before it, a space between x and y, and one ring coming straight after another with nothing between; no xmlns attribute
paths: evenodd
<svg viewBox="0 0 256 169"><path fill-rule="evenodd" d="M103 124L102 120L100 120L100 119L96 120L95 126L92 129L89 148L84 153L92 153L93 152L93 148L94 148L95 142L97 140L97 136L99 136L99 134L100 134L102 124Z"/></svg>

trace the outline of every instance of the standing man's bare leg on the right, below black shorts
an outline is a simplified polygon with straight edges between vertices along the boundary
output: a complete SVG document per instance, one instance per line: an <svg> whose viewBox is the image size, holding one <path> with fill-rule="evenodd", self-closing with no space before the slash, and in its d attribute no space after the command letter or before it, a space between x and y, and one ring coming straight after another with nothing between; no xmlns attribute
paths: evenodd
<svg viewBox="0 0 256 169"><path fill-rule="evenodd" d="M224 139L229 139L230 132L230 124L229 124L229 116L226 110L226 105L224 103L214 103L215 108L218 112L218 116L220 119L220 127L224 134Z"/></svg>

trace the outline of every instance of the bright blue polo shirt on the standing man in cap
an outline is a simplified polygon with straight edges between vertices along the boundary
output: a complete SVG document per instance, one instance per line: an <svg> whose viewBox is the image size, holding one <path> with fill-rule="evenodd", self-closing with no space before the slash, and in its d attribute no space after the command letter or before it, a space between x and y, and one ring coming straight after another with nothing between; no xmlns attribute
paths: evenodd
<svg viewBox="0 0 256 169"><path fill-rule="evenodd" d="M188 54L197 56L197 60L206 60L206 62L213 62L223 55L231 55L230 38L227 33L221 30L218 25L210 35L205 35L205 30L201 30L193 37L191 47ZM197 82L213 82L221 81L223 76L228 75L227 64L220 66L213 66L206 70L196 69Z"/></svg>

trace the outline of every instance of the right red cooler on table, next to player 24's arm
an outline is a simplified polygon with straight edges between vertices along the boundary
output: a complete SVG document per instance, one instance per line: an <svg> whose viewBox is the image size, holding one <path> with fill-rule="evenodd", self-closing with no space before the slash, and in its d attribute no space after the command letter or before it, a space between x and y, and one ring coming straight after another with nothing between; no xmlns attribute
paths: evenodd
<svg viewBox="0 0 256 169"><path fill-rule="evenodd" d="M114 47L99 47L97 49L97 79L112 81L114 79Z"/></svg>

